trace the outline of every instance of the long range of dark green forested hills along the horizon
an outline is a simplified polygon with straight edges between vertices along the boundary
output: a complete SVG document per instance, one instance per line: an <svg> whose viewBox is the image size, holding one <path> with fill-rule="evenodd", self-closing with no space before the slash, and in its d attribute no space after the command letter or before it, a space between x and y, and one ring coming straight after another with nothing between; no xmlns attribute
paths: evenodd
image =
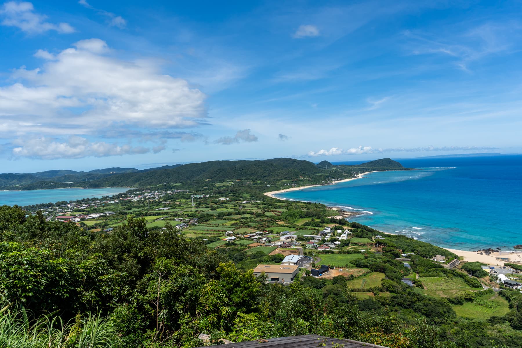
<svg viewBox="0 0 522 348"><path fill-rule="evenodd" d="M133 168L110 168L91 172L49 171L31 174L0 174L13 179L4 186L16 189L76 187L148 187L156 185L183 185L184 187L208 184L246 184L267 190L270 186L285 184L321 184L354 177L366 171L405 170L400 163L389 158L358 165L333 165L327 161L314 164L292 158L275 158L263 161L209 161L176 164L138 171ZM53 172L53 173L50 173ZM38 174L38 176L37 176ZM59 175L49 177L50 175ZM16 182L16 176L25 181ZM45 177L48 176L48 177ZM34 179L37 177L37 179ZM16 186L15 186L16 185ZM10 187L9 187L10 186ZM180 187L181 188L181 187Z"/></svg>

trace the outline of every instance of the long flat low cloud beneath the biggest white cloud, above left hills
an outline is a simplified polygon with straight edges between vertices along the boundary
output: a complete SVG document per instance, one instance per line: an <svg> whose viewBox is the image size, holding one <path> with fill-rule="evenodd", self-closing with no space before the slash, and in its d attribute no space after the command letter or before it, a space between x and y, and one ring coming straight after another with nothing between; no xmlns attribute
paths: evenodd
<svg viewBox="0 0 522 348"><path fill-rule="evenodd" d="M70 136L67 141L54 138L18 139L19 145L13 149L15 157L27 157L33 159L79 159L84 157L106 157L125 154L148 153L151 149L146 147L132 147L131 145L117 145L103 141L89 142L86 138ZM152 149L154 153L164 150L164 146Z"/></svg>

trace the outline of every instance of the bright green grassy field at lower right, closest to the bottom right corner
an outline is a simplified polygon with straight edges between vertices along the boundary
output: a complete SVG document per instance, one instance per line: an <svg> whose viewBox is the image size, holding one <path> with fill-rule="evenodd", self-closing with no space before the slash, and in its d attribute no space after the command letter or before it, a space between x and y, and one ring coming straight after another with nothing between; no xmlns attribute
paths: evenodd
<svg viewBox="0 0 522 348"><path fill-rule="evenodd" d="M490 305L483 306L480 300L488 302ZM509 304L503 297L493 294L477 297L474 302L466 302L464 305L454 305L453 309L458 317L487 320L492 316L501 317L507 314Z"/></svg>

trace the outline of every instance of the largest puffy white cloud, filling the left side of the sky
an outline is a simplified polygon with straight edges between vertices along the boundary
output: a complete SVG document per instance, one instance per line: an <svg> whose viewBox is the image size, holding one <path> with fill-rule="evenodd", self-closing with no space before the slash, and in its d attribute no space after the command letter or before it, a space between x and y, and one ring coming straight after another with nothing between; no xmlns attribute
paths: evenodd
<svg viewBox="0 0 522 348"><path fill-rule="evenodd" d="M22 66L11 76L15 83L0 87L0 133L54 136L64 128L78 134L102 127L180 128L203 123L203 92L184 79L160 74L151 62L122 61L108 53L100 39L78 41L56 55L38 51L45 60L40 68ZM27 126L34 119L40 126Z"/></svg>

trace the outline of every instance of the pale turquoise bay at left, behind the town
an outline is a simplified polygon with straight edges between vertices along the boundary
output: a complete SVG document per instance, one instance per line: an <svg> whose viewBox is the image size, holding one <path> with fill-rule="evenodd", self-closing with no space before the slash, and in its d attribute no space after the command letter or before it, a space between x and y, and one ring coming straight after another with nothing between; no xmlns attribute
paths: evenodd
<svg viewBox="0 0 522 348"><path fill-rule="evenodd" d="M82 198L112 196L129 190L128 187L105 188L56 188L48 190L0 191L0 206L28 206L39 203L55 203Z"/></svg>

